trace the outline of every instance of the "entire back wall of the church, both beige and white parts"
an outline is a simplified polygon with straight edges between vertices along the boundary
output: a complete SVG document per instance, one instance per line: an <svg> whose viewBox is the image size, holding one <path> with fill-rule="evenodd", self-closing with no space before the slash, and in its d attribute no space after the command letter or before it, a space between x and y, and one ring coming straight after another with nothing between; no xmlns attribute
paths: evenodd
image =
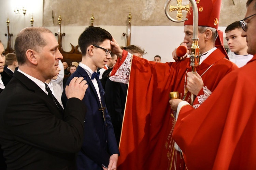
<svg viewBox="0 0 256 170"><path fill-rule="evenodd" d="M184 0L183 0L184 1ZM72 4L70 4L72 2ZM176 1L175 1L176 2ZM185 0L188 2L188 0ZM245 16L245 0L223 0L219 29L224 31L226 26ZM103 5L104 4L104 5ZM136 5L132 5L136 4ZM78 37L90 25L91 13L94 13L94 26L109 31L120 46L126 45L128 33L127 16L131 12L131 44L141 46L147 52L144 58L153 60L155 55L162 57L162 62L172 60L171 52L183 41L183 24L170 21L164 13L163 0L1 0L0 2L0 39L4 47L7 46L6 20L10 20L11 46L17 33L25 27L30 27L33 16L33 26L43 26L53 33L58 33L58 15L61 14L61 32L66 33L62 39L62 46L69 51L72 45L76 46ZM173 4L174 5L174 4ZM26 8L26 14L15 14L15 8ZM175 12L173 14L175 17ZM54 16L54 23L52 16ZM184 13L185 16L185 13ZM225 34L224 34L225 35ZM57 37L56 37L57 38ZM224 38L224 45L227 42Z"/></svg>

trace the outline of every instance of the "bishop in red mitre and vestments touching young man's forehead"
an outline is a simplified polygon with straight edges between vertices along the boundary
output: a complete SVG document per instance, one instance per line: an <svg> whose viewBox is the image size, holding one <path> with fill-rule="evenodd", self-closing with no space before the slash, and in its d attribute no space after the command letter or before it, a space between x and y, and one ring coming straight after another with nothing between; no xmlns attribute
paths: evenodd
<svg viewBox="0 0 256 170"><path fill-rule="evenodd" d="M195 107L204 96L214 91L219 81L238 68L227 59L218 28L221 0L199 1L203 10L199 12L199 47L203 54L201 65L197 67L202 81L193 90L197 95ZM188 49L192 45L193 15L187 14L184 26L184 43ZM219 37L217 37L219 35ZM217 37L217 40L215 41ZM128 94L120 139L119 170L130 169L185 169L182 154L174 149L172 131L175 119L169 105L169 92L179 91L188 100L186 74L191 72L189 58L170 63L156 63L132 56L120 50L111 42L119 59L113 68L112 81L128 83Z"/></svg>

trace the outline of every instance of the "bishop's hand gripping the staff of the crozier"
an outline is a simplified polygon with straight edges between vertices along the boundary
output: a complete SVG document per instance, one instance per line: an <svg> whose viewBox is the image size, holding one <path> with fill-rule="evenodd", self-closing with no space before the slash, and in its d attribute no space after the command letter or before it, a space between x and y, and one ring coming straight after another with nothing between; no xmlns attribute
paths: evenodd
<svg viewBox="0 0 256 170"><path fill-rule="evenodd" d="M191 72L187 73L187 89L190 93L197 96L203 85L203 80L198 73L196 75Z"/></svg>

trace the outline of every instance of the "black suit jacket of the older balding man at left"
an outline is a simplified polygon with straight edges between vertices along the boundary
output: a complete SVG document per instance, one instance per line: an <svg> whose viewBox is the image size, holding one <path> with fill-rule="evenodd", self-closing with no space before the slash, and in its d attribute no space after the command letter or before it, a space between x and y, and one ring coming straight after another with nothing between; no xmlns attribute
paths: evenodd
<svg viewBox="0 0 256 170"><path fill-rule="evenodd" d="M62 113L17 71L0 94L0 105L0 142L8 169L75 169L86 112L80 99L70 98Z"/></svg>

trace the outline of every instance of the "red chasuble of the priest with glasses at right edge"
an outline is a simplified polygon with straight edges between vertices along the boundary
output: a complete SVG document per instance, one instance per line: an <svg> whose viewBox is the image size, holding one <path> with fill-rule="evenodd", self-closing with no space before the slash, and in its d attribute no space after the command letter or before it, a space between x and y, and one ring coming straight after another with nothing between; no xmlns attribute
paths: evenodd
<svg viewBox="0 0 256 170"><path fill-rule="evenodd" d="M189 170L256 169L256 55L198 108L182 107L173 138Z"/></svg>

